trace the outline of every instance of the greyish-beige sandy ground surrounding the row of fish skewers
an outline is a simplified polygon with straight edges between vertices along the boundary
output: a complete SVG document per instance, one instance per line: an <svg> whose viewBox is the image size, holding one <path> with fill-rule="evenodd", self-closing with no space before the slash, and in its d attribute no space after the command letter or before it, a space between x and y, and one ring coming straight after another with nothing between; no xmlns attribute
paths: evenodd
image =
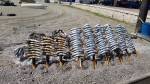
<svg viewBox="0 0 150 84"><path fill-rule="evenodd" d="M55 29L63 29L69 32L69 29L82 27L86 23L92 26L108 23L112 26L122 24L131 32L134 24L128 25L54 4L46 10L16 7L13 12L16 17L0 16L0 84L120 84L150 72L150 43L141 39L134 40L140 58L132 56L131 64L98 64L93 70L91 62L85 61L83 70L78 69L74 62L65 64L63 68L53 64L48 72L43 65L32 70L30 65L21 65L13 52L24 45L33 31L50 34Z"/></svg>

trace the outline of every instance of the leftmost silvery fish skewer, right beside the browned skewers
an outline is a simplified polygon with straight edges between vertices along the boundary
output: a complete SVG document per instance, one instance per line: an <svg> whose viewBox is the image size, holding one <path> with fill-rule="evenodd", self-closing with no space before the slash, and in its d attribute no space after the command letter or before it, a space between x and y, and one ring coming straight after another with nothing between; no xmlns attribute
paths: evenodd
<svg viewBox="0 0 150 84"><path fill-rule="evenodd" d="M84 50L83 42L81 38L81 28L73 28L70 32L70 45L71 45L71 54L82 68L82 61L84 59Z"/></svg>

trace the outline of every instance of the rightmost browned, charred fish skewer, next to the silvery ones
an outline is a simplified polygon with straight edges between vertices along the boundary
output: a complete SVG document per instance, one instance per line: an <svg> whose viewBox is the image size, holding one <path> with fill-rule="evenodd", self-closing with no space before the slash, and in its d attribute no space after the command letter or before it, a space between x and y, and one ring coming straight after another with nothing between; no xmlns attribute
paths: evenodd
<svg viewBox="0 0 150 84"><path fill-rule="evenodd" d="M56 30L57 32L54 33L54 48L55 48L55 54L59 57L59 63L62 67L68 58L71 58L69 52L70 48L70 39L68 38L68 35L64 33L63 30L59 29Z"/></svg>

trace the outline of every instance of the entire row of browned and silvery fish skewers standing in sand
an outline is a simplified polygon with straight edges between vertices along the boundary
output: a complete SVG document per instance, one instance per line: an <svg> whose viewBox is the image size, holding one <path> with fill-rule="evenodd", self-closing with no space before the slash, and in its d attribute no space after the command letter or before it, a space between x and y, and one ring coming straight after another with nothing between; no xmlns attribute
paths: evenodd
<svg viewBox="0 0 150 84"><path fill-rule="evenodd" d="M137 55L126 28L121 25L112 28L108 24L97 24L94 28L86 24L83 28L72 28L68 35L60 29L53 31L51 35L32 33L26 47L27 51L19 48L15 55L31 59L33 68L38 64L38 60L45 61L44 64L48 68L53 61L50 57L58 58L56 60L60 66L65 62L76 61L80 68L85 60L89 60L93 62L95 69L98 61L109 65L115 63L118 58L122 64L123 58L128 58L130 63L131 55Z"/></svg>

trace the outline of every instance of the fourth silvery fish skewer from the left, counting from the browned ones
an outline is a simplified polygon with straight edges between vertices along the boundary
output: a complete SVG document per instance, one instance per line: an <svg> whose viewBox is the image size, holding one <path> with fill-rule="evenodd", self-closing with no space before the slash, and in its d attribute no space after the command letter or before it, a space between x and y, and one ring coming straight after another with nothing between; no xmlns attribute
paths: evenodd
<svg viewBox="0 0 150 84"><path fill-rule="evenodd" d="M110 61L114 62L114 57L118 57L120 62L122 62L122 56L120 56L120 49L118 47L118 43L116 41L115 33L112 30L112 27L108 24L104 25L104 27L106 28L105 38L107 41L107 48L108 48L106 59L108 61L108 64L110 63Z"/></svg>

